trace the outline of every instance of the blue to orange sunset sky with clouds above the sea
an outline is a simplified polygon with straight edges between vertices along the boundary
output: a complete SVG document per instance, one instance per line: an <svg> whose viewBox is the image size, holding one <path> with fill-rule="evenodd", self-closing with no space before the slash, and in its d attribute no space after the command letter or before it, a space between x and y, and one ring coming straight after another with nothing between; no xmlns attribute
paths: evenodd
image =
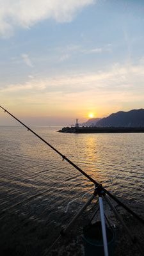
<svg viewBox="0 0 144 256"><path fill-rule="evenodd" d="M144 108L144 1L0 0L0 105L27 125ZM0 110L0 125L15 125Z"/></svg>

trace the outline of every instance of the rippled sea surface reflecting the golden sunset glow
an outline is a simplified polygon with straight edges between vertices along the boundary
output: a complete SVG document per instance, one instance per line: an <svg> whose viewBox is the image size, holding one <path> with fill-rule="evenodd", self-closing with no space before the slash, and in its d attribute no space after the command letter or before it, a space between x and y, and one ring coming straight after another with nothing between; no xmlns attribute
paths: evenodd
<svg viewBox="0 0 144 256"><path fill-rule="evenodd" d="M144 203L143 133L67 134L60 128L31 127L115 196ZM94 188L24 127L0 127L0 152L0 211L61 225Z"/></svg>

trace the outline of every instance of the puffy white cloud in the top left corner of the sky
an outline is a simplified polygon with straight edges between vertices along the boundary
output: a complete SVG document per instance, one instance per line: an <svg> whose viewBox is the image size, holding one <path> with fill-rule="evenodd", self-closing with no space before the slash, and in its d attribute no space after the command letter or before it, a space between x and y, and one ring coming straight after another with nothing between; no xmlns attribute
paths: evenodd
<svg viewBox="0 0 144 256"><path fill-rule="evenodd" d="M45 19L70 22L78 11L95 2L96 0L0 0L0 35L11 36L15 27L28 29Z"/></svg>

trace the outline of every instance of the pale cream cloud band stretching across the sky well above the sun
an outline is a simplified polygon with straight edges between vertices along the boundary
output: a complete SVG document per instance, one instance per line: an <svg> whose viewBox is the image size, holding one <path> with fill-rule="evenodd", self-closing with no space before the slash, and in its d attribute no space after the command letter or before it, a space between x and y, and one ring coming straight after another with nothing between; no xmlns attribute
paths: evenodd
<svg viewBox="0 0 144 256"><path fill-rule="evenodd" d="M35 90L38 93L63 93L76 95L77 93L89 93L93 95L115 95L117 99L120 95L139 95L144 97L144 64L120 65L115 63L108 70L99 72L87 72L77 74L66 74L65 76L54 77L31 77L29 81L22 84L9 84L1 88L1 93L27 92ZM143 98L144 99L144 98Z"/></svg>

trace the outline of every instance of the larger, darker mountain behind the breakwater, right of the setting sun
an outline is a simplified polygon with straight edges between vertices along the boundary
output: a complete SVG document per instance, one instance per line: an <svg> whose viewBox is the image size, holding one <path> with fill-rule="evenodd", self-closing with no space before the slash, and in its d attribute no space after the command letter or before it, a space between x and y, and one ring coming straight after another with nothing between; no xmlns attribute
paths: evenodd
<svg viewBox="0 0 144 256"><path fill-rule="evenodd" d="M144 109L119 111L100 119L95 127L144 127Z"/></svg>

